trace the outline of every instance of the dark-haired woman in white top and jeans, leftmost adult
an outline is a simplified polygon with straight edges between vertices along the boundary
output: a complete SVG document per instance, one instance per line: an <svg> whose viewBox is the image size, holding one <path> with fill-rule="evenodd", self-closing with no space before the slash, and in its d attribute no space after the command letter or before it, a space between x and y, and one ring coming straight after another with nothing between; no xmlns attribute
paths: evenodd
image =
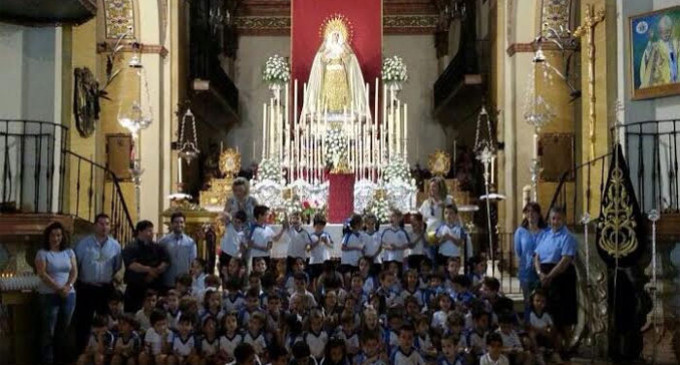
<svg viewBox="0 0 680 365"><path fill-rule="evenodd" d="M44 326L40 355L42 363L48 365L54 363L55 349L63 351L63 345L55 346L54 343L57 339L65 338L63 334L71 323L76 305L73 283L78 277L78 265L75 253L67 246L64 226L55 222L45 228L43 248L35 256L35 270L40 277L38 293ZM60 324L58 332L57 324ZM58 334L56 337L55 333Z"/></svg>

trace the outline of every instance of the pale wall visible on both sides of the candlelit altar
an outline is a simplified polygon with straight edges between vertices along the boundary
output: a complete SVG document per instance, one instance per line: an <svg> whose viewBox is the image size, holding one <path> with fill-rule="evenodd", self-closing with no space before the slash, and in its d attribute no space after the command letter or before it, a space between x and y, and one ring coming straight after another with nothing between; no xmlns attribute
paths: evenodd
<svg viewBox="0 0 680 365"><path fill-rule="evenodd" d="M236 76L241 123L227 136L227 145L238 146L242 163L259 161L262 153L262 104L271 92L262 83L262 65L273 54L290 56L290 37L244 36L239 39ZM383 55L404 58L409 81L401 99L409 105L409 162L427 162L427 156L444 147L444 134L432 115L432 87L437 79L437 59L432 35L383 37ZM304 80L300 80L300 86ZM254 153L254 155L253 155Z"/></svg>

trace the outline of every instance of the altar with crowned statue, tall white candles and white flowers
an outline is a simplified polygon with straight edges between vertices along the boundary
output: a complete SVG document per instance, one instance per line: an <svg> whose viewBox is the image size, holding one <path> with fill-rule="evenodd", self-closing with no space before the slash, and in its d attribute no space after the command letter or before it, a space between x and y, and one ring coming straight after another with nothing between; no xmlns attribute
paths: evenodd
<svg viewBox="0 0 680 365"><path fill-rule="evenodd" d="M301 202L325 207L333 223L352 212L413 210L408 105L399 98L405 66L388 58L382 78L366 82L350 20L332 14L319 34L306 82L291 79L283 57L265 65L273 95L262 105L263 147L251 194L275 210Z"/></svg>

